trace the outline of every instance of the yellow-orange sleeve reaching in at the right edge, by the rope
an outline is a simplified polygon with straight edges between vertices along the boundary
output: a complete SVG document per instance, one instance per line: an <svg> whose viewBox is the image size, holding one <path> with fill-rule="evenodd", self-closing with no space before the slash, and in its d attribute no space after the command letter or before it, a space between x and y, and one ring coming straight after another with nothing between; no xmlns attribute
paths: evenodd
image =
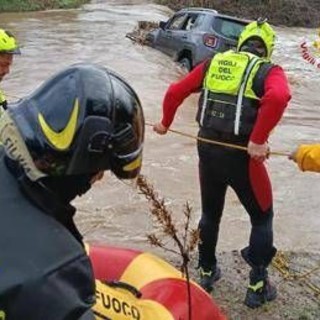
<svg viewBox="0 0 320 320"><path fill-rule="evenodd" d="M300 170L320 172L320 144L301 145L295 158Z"/></svg>

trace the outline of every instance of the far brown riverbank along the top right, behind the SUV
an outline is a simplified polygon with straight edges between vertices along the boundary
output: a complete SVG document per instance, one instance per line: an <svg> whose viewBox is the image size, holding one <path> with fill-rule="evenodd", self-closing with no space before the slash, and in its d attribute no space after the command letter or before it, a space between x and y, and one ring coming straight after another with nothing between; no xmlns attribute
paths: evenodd
<svg viewBox="0 0 320 320"><path fill-rule="evenodd" d="M206 7L246 19L267 17L277 26L318 28L318 0L155 0L173 10L182 7Z"/></svg>

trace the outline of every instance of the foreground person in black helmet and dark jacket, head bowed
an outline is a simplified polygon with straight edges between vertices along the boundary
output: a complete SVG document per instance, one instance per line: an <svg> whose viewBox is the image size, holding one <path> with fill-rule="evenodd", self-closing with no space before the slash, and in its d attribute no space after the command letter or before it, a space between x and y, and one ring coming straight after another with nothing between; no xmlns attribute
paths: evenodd
<svg viewBox="0 0 320 320"><path fill-rule="evenodd" d="M139 173L143 112L117 74L77 64L0 118L0 314L92 320L95 284L70 202L105 170Z"/></svg>

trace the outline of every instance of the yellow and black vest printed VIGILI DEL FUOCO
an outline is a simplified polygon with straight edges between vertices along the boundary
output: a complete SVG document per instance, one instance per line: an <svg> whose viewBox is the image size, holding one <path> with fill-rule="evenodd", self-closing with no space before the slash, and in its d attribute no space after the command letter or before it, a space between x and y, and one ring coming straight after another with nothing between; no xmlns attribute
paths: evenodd
<svg viewBox="0 0 320 320"><path fill-rule="evenodd" d="M200 127L248 136L271 68L265 59L250 53L230 50L216 54L204 78L197 115Z"/></svg>

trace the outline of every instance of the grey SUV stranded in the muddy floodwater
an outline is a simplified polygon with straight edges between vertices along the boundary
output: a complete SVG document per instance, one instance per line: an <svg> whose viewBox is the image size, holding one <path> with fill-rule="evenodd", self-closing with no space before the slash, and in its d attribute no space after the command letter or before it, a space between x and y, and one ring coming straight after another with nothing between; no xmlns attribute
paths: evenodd
<svg viewBox="0 0 320 320"><path fill-rule="evenodd" d="M185 8L147 35L152 47L168 54L191 70L217 52L234 49L244 27L249 23L205 8Z"/></svg>

